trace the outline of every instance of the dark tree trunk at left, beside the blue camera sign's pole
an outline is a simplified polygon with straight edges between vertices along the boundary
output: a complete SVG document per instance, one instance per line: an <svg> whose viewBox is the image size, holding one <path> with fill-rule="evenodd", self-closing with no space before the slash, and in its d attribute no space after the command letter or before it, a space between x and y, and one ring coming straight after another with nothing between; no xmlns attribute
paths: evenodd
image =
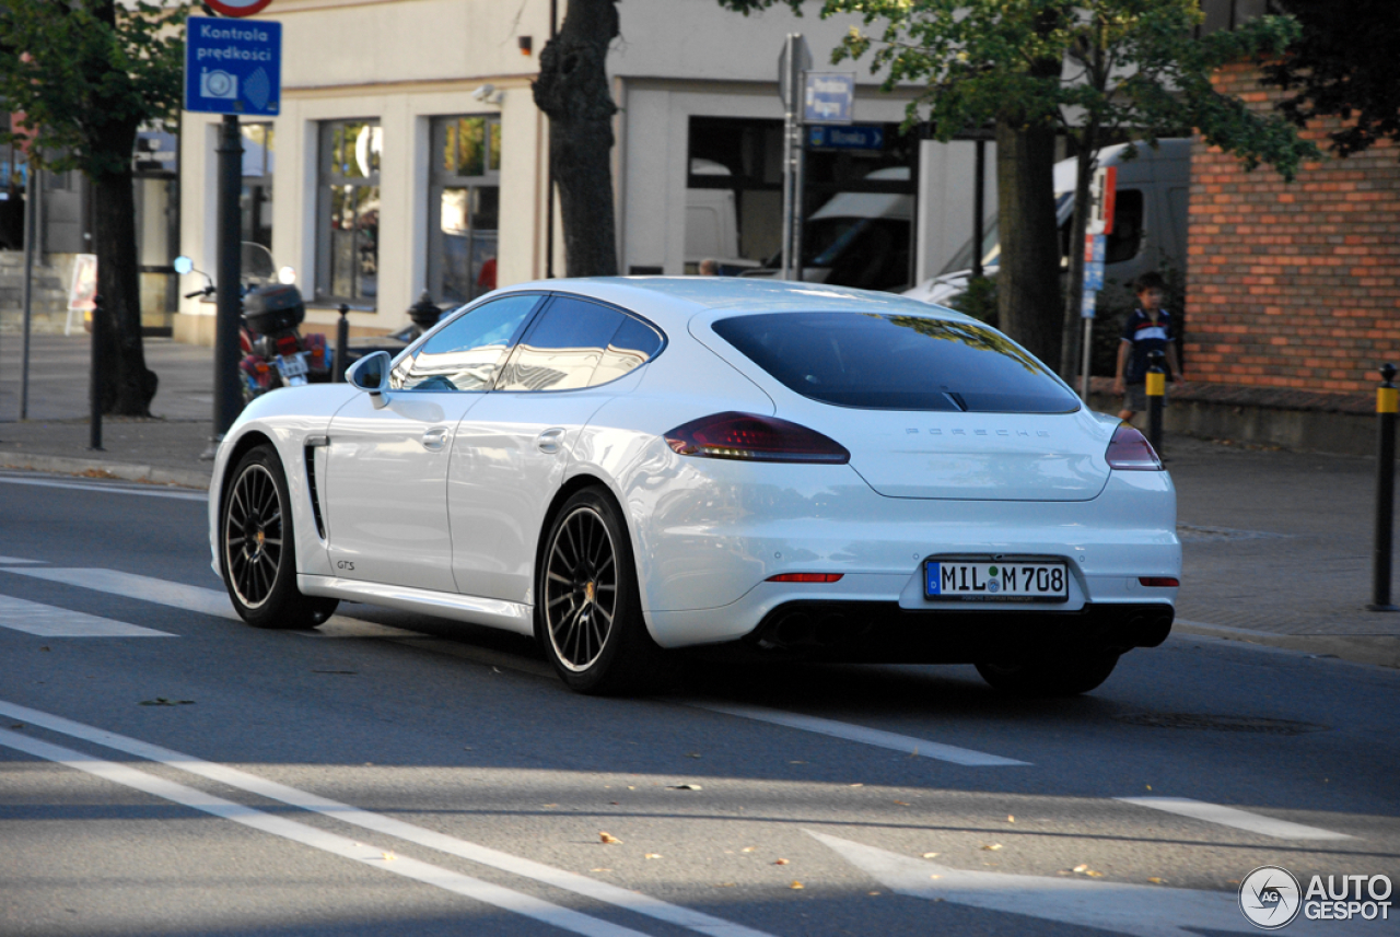
<svg viewBox="0 0 1400 937"><path fill-rule="evenodd" d="M134 143L134 130L126 151ZM141 289L136 260L136 199L132 172L105 173L92 183L97 288L106 315L102 355L102 411L148 417L157 376L141 345Z"/></svg>

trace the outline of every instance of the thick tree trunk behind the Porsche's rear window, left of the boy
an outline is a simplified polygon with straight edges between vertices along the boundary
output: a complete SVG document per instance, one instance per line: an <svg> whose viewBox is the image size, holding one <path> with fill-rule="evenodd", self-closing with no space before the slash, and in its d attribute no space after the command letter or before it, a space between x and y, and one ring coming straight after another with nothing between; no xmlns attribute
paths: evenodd
<svg viewBox="0 0 1400 937"><path fill-rule="evenodd" d="M1002 331L1046 366L1060 361L1060 232L1054 217L1054 127L997 122Z"/></svg>

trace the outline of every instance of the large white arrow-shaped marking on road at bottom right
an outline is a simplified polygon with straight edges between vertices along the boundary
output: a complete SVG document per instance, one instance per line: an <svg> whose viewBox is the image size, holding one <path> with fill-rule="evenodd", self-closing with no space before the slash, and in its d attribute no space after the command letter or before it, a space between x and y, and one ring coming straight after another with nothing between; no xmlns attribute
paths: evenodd
<svg viewBox="0 0 1400 937"><path fill-rule="evenodd" d="M1196 937L1203 930L1259 933L1240 912L1238 895L1232 891L963 871L826 834L806 834L886 888L911 898L946 901L1134 937ZM1361 924L1359 917L1351 922L1316 922L1299 915L1288 926L1288 933L1330 937L1338 933L1338 927L1341 933L1359 933ZM930 926L930 933L932 931L934 927Z"/></svg>

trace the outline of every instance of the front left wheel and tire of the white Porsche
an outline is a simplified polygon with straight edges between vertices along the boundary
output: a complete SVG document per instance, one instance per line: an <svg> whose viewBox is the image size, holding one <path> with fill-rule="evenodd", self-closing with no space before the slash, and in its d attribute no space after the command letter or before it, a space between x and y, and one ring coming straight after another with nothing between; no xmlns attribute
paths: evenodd
<svg viewBox="0 0 1400 937"><path fill-rule="evenodd" d="M297 592L291 496L277 450L248 450L220 510L220 566L238 615L253 628L315 628L339 600Z"/></svg>

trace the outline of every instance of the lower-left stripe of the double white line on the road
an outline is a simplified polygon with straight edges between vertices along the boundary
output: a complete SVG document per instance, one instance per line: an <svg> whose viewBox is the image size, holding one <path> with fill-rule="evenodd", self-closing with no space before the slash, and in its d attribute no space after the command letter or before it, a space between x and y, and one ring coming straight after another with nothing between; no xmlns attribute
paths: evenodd
<svg viewBox="0 0 1400 937"><path fill-rule="evenodd" d="M316 829L315 827L287 820L286 817L277 817L232 800L224 800L223 797L216 797L214 794L204 793L203 790L197 790L195 787L176 785L172 780L148 775L143 771L130 768L129 765L94 758L92 755L87 755L71 748L63 748L62 745L55 745L17 731L10 731L8 729L0 729L0 745L22 751L36 758L43 758L59 765L66 765L97 778L102 778L104 780L109 780L115 785L133 787L154 797L182 804L193 810L200 810L206 814L213 814L214 817L231 820L235 824L252 827L253 829L260 829L265 834L281 836L283 839L290 839L304 846L311 846L312 849L340 856L342 859L350 859L364 866L370 866L371 868L389 871L396 875L403 875L405 878L413 878L427 885L456 892L458 895L472 898L503 910L524 915L525 917L533 917L535 920L553 924L554 927L560 927L563 930L570 930L575 934L587 934L588 937L647 937L641 931L631 930L630 927L622 927L596 917L589 917L581 912L560 908L559 905L542 901L532 895L511 891L510 888L503 888L500 885L482 881L480 878L472 878L470 875L462 875L440 866L431 866L426 861L409 859L407 856L393 856L392 852L379 849L378 846L357 843L351 839L346 839L344 836L337 836L335 834L325 832L323 829Z"/></svg>

